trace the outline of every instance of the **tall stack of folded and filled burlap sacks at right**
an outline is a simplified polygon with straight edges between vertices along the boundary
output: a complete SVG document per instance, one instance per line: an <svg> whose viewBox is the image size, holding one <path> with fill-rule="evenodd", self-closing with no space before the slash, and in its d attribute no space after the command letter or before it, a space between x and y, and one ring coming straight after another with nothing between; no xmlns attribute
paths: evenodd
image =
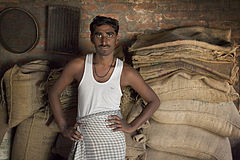
<svg viewBox="0 0 240 160"><path fill-rule="evenodd" d="M145 159L232 159L229 138L240 137L236 50L230 31L203 27L137 37L133 65L161 101L138 134Z"/></svg>

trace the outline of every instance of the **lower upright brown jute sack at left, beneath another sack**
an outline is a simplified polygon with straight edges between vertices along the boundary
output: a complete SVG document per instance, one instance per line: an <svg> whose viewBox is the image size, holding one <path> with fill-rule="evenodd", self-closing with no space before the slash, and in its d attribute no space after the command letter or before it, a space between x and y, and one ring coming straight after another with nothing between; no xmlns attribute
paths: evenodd
<svg viewBox="0 0 240 160"><path fill-rule="evenodd" d="M47 115L37 112L18 125L11 153L12 160L47 160L57 136L56 123L46 126Z"/></svg>

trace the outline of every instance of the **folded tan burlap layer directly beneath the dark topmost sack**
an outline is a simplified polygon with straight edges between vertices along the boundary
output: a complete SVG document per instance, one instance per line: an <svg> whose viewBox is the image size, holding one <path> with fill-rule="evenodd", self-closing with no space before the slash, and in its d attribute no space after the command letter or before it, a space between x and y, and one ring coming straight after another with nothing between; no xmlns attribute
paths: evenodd
<svg viewBox="0 0 240 160"><path fill-rule="evenodd" d="M168 44L174 44L174 46L159 44L160 48L144 50L144 54L140 53L140 51L136 52L132 56L134 66L142 63L158 63L177 58L191 58L204 62L234 63L238 49L238 46L229 48L189 40L168 42Z"/></svg>

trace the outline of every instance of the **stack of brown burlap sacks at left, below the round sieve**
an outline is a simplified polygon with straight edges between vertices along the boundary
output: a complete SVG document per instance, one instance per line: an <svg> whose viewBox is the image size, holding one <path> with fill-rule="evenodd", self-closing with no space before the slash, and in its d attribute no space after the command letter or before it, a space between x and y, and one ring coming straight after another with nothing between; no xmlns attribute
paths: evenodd
<svg viewBox="0 0 240 160"><path fill-rule="evenodd" d="M46 81L48 73L48 61L36 60L14 65L1 80L1 144L13 144L5 145L5 149L8 147L11 151L4 151L12 160L49 157L57 126L45 125L48 119L45 112L47 98L42 83ZM11 135L12 128L14 135ZM8 137L5 142L3 135L4 138Z"/></svg>

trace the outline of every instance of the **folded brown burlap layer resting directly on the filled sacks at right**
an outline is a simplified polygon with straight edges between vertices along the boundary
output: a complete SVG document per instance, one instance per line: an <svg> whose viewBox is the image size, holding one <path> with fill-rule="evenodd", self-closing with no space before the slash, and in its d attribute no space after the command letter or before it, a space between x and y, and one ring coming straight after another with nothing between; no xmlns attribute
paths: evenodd
<svg viewBox="0 0 240 160"><path fill-rule="evenodd" d="M194 59L173 59L166 62L158 62L155 65L141 67L139 73L146 82L164 79L171 73L179 71L188 72L192 75L203 75L219 81L227 81L234 84L238 80L239 67L237 63L209 63Z"/></svg>

